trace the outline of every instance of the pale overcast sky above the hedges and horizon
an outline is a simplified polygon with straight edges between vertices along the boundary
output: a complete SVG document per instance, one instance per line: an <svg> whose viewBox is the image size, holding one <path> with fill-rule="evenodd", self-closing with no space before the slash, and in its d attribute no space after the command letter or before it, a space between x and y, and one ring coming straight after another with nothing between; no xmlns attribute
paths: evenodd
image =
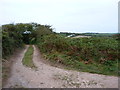
<svg viewBox="0 0 120 90"><path fill-rule="evenodd" d="M49 24L56 32L118 32L119 0L0 0L0 25Z"/></svg>

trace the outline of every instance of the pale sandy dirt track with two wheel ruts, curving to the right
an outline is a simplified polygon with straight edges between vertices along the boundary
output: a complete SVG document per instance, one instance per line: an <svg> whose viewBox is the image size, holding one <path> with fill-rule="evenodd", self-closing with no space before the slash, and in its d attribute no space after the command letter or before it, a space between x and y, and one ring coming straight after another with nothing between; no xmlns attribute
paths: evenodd
<svg viewBox="0 0 120 90"><path fill-rule="evenodd" d="M12 57L16 62L4 88L118 88L117 77L65 70L44 63L35 46L33 61L37 70L28 68L22 64L28 47Z"/></svg>

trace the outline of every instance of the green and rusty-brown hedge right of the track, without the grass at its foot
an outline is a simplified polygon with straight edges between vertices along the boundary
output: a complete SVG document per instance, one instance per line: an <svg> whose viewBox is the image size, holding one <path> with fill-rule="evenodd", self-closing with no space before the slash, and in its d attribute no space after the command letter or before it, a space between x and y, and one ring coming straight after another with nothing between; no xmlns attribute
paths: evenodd
<svg viewBox="0 0 120 90"><path fill-rule="evenodd" d="M43 52L65 52L67 55L79 56L84 61L89 59L101 58L105 60L117 60L118 41L113 38L64 38L51 34L43 36L38 41L38 47Z"/></svg>

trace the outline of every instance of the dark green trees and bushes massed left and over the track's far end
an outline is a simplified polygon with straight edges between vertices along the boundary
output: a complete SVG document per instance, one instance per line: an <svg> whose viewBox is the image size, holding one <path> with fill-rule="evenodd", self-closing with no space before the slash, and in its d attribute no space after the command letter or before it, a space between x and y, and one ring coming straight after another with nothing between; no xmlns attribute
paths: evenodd
<svg viewBox="0 0 120 90"><path fill-rule="evenodd" d="M1 29L1 27L0 27ZM6 58L23 44L35 44L37 38L52 33L50 25L17 23L2 25L2 56Z"/></svg>

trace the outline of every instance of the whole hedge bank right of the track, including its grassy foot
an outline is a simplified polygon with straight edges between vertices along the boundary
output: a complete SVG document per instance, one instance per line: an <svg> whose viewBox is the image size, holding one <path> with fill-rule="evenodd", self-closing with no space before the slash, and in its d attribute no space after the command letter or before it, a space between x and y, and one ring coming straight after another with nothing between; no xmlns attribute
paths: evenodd
<svg viewBox="0 0 120 90"><path fill-rule="evenodd" d="M49 59L64 65L83 69L83 71L86 68L89 72L117 74L118 41L115 38L65 38L51 34L38 39L37 45ZM82 65L86 66L81 68ZM90 69L89 65L92 65L95 70L99 67L100 71Z"/></svg>

